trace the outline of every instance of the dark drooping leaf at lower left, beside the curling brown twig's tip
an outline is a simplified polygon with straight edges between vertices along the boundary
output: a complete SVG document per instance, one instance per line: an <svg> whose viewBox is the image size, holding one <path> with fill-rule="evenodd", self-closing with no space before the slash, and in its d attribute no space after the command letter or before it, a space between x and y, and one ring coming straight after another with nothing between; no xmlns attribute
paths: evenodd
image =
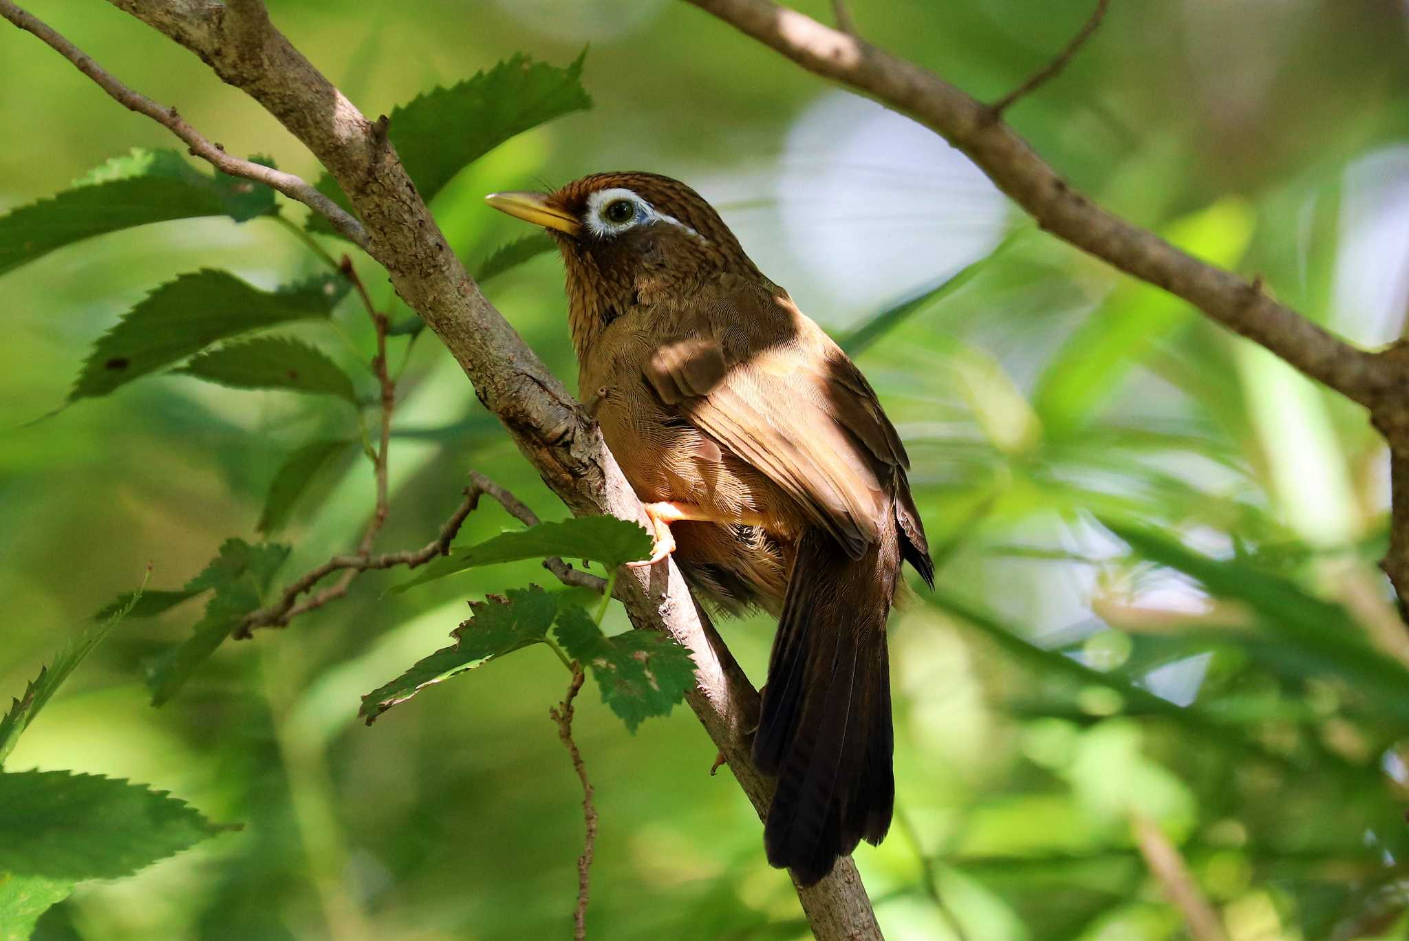
<svg viewBox="0 0 1409 941"><path fill-rule="evenodd" d="M244 540L227 540L220 547L220 555L186 586L187 590L197 586L196 592L216 589L206 603L204 617L196 623L194 635L162 654L147 671L152 706L162 706L175 696L244 616L261 606L265 589L286 558L289 547L278 542L249 545Z"/></svg>

